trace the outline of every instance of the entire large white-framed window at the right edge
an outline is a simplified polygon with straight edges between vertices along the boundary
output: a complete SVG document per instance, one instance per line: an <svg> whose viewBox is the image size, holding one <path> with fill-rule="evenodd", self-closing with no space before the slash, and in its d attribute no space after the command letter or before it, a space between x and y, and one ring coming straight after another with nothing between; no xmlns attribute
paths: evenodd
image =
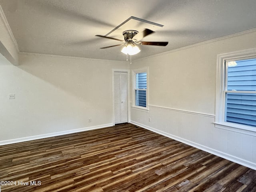
<svg viewBox="0 0 256 192"><path fill-rule="evenodd" d="M218 55L215 124L256 134L256 49Z"/></svg>

